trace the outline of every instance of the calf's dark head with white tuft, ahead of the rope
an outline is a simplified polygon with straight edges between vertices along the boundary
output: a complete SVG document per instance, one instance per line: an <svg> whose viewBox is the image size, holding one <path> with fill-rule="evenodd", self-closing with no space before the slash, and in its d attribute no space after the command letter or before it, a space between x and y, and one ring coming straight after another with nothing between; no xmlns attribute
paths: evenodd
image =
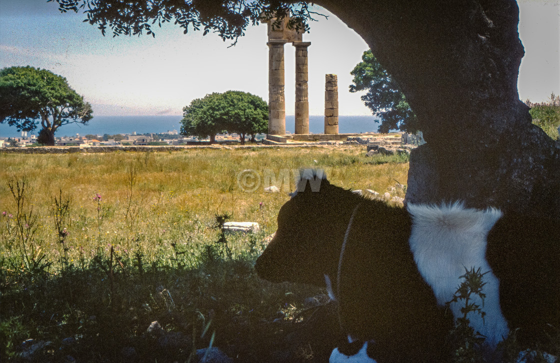
<svg viewBox="0 0 560 363"><path fill-rule="evenodd" d="M324 275L337 275L344 233L362 197L317 174L303 171L280 209L276 234L255 265L263 279L324 286Z"/></svg>

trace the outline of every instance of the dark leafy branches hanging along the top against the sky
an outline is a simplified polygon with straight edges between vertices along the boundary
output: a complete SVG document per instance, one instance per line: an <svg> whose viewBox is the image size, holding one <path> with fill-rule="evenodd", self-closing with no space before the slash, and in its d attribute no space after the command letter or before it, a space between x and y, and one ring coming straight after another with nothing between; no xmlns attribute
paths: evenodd
<svg viewBox="0 0 560 363"><path fill-rule="evenodd" d="M53 1L53 0L48 0ZM245 34L250 23L257 25L263 18L280 20L289 12L291 20L288 27L298 32L309 31L306 21L311 19L307 2L290 3L263 0L256 1L136 1L134 6L122 0L56 0L62 12L78 12L83 9L91 25L96 24L105 35L107 27L113 30L113 36L147 35L155 36L153 24L161 27L162 23L174 21L184 29L201 30L203 35L213 32L223 41L234 40ZM235 44L234 43L234 44Z"/></svg>

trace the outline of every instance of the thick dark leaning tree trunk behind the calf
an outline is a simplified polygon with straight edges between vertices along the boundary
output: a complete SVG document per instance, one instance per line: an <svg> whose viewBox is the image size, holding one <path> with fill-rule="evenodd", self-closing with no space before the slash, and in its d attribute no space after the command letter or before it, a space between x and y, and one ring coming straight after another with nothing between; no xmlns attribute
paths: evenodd
<svg viewBox="0 0 560 363"><path fill-rule="evenodd" d="M515 1L317 3L366 40L418 116L427 144L411 155L408 202L560 218L560 145L531 124L517 93Z"/></svg>

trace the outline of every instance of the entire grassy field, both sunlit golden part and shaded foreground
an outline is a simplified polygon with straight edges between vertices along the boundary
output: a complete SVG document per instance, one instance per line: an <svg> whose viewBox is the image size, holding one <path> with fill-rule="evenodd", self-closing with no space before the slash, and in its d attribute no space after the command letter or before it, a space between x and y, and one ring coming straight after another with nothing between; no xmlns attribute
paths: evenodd
<svg viewBox="0 0 560 363"><path fill-rule="evenodd" d="M269 284L253 263L295 188L292 169L324 168L335 185L381 194L406 184L407 160L364 154L0 154L2 361L194 362L209 346L239 362L328 360L336 323L305 319L314 334L298 323L330 316L316 306L324 291ZM264 191L270 175L281 192ZM223 239L225 214L261 230ZM148 332L156 320L162 330Z"/></svg>

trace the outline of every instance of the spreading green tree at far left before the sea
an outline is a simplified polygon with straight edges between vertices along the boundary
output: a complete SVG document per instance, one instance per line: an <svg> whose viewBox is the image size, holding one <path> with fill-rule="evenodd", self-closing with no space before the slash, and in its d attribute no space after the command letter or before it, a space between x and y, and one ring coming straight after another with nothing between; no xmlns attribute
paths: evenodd
<svg viewBox="0 0 560 363"><path fill-rule="evenodd" d="M91 105L66 81L46 69L10 67L0 70L0 122L18 131L35 130L38 143L54 145L60 126L91 120Z"/></svg>

